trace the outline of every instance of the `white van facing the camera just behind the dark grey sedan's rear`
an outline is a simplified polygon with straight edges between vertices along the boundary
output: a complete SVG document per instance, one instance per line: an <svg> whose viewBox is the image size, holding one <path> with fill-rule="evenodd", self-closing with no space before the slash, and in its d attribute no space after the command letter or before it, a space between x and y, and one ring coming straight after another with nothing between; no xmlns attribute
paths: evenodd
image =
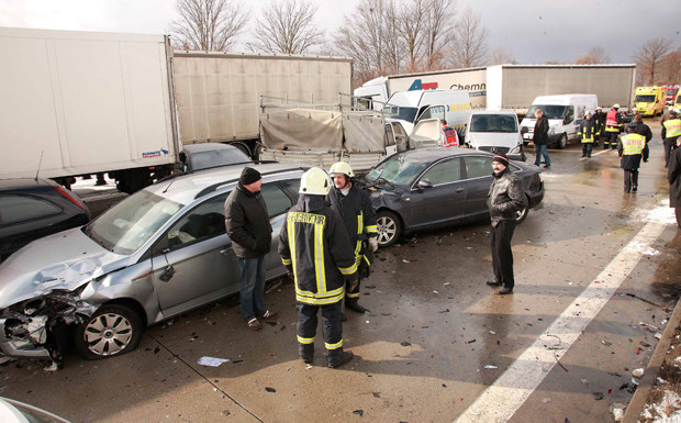
<svg viewBox="0 0 681 423"><path fill-rule="evenodd" d="M494 154L503 153L514 160L525 162L523 136L517 115L511 110L476 110L470 114L466 145Z"/></svg>

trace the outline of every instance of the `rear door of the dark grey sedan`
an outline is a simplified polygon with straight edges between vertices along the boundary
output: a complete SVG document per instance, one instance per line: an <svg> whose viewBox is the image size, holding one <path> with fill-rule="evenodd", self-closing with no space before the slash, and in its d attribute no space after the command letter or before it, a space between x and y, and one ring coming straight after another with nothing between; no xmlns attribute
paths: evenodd
<svg viewBox="0 0 681 423"><path fill-rule="evenodd" d="M487 194L492 185L492 156L464 157L466 178L466 218L484 219L489 215Z"/></svg>

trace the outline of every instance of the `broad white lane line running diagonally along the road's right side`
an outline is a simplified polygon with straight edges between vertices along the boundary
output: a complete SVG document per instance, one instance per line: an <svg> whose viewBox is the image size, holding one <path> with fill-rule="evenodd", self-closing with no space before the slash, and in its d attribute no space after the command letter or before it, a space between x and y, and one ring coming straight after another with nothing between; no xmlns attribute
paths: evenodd
<svg viewBox="0 0 681 423"><path fill-rule="evenodd" d="M667 209L667 213L671 213L671 209ZM550 327L455 423L509 421L636 267L643 257L640 248L651 247L667 226L667 223L650 219Z"/></svg>

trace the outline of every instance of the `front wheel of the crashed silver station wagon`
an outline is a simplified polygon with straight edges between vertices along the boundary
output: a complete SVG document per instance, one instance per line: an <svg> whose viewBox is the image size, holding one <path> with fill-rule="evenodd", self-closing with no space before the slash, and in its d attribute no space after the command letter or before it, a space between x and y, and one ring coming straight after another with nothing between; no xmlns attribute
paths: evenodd
<svg viewBox="0 0 681 423"><path fill-rule="evenodd" d="M102 305L76 327L74 342L82 358L102 359L135 349L143 330L139 314L130 307Z"/></svg>

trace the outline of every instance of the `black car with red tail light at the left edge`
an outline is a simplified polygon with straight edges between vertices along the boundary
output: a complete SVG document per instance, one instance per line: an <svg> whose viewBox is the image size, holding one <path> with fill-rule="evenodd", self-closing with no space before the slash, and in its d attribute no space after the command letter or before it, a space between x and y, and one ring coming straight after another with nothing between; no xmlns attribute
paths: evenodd
<svg viewBox="0 0 681 423"><path fill-rule="evenodd" d="M89 221L78 196L49 179L0 180L0 261L31 241Z"/></svg>

